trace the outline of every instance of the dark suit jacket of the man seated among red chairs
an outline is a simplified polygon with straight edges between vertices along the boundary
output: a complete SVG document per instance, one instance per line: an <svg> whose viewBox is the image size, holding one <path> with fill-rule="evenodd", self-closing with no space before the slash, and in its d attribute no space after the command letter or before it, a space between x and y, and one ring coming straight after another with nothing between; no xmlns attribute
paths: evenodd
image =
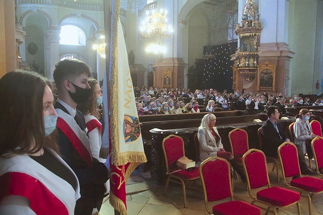
<svg viewBox="0 0 323 215"><path fill-rule="evenodd" d="M262 125L261 135L263 146L261 147L261 150L269 157L276 157L278 147L285 142L286 138L289 138L279 123L277 123L277 127L279 133L269 119Z"/></svg>

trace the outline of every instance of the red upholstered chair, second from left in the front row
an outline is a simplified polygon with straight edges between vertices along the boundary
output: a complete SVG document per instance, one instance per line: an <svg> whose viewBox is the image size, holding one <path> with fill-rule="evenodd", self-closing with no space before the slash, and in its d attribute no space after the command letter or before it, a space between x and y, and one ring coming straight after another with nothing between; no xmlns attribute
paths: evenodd
<svg viewBox="0 0 323 215"><path fill-rule="evenodd" d="M266 159L262 151L251 149L242 157L243 168L247 176L247 187L250 196L254 199L251 204L258 204L258 207L277 214L277 207L287 207L297 204L297 211L300 214L300 194L282 187L272 187L268 178ZM266 186L256 192L252 189ZM263 206L263 204L265 206Z"/></svg>

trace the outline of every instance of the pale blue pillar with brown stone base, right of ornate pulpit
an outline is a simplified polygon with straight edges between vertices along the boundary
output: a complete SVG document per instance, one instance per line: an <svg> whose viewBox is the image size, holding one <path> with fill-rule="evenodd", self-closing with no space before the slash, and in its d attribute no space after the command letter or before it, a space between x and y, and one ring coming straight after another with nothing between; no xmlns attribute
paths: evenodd
<svg viewBox="0 0 323 215"><path fill-rule="evenodd" d="M276 64L276 92L290 95L290 78L286 71L289 71L290 59L293 58L294 52L288 45L289 3L279 0L259 1L259 14L263 30L258 47L258 63ZM267 93L273 94L270 91Z"/></svg>

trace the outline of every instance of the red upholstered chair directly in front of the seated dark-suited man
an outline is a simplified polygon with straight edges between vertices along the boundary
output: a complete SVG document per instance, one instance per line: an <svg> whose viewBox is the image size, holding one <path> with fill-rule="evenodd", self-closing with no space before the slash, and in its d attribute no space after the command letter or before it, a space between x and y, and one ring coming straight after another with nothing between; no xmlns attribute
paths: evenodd
<svg viewBox="0 0 323 215"><path fill-rule="evenodd" d="M289 188L294 188L301 193L305 193L308 200L309 214L312 214L311 195L323 192L323 180L308 176L301 176L301 170L298 163L297 148L292 142L284 142L278 148L279 159L282 164L284 183ZM296 178L296 177L298 178ZM294 177L290 183L286 178Z"/></svg>

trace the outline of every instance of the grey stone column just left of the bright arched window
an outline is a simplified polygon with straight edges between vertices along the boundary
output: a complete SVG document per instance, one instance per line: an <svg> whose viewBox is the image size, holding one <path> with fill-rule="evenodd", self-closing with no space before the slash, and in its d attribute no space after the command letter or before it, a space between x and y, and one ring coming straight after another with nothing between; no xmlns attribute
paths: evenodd
<svg viewBox="0 0 323 215"><path fill-rule="evenodd" d="M60 60L60 33L59 26L47 28L45 41L45 76L53 80L52 72L57 61Z"/></svg>

